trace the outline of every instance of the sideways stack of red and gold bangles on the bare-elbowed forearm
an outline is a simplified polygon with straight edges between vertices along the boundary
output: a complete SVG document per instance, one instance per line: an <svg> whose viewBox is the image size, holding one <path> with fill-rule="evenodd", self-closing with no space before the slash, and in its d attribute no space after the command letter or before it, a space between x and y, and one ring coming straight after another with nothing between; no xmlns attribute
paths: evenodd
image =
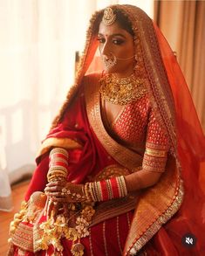
<svg viewBox="0 0 205 256"><path fill-rule="evenodd" d="M119 197L126 197L124 176L117 176L99 182L85 183L85 197L89 201L100 202Z"/></svg>

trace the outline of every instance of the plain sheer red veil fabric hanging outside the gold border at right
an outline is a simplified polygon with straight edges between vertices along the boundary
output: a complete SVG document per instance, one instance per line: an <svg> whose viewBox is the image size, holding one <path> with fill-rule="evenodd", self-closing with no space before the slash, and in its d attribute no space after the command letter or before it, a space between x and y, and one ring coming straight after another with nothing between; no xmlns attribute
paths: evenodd
<svg viewBox="0 0 205 256"><path fill-rule="evenodd" d="M184 198L180 210L154 236L152 243L161 255L204 255L205 195L202 187L205 184L200 179L200 166L205 161L205 139L180 66L161 31L156 26L155 30L174 95ZM201 171L204 175L205 170ZM187 233L195 235L195 247L188 248L181 243Z"/></svg>

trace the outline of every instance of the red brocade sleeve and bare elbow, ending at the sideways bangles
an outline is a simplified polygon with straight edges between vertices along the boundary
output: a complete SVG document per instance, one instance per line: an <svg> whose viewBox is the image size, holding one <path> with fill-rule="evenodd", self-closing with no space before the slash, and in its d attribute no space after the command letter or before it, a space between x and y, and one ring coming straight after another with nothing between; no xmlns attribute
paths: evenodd
<svg viewBox="0 0 205 256"><path fill-rule="evenodd" d="M166 128L162 127L157 114L151 110L147 125L146 150L142 170L125 176L127 191L153 186L166 169L167 152L170 148Z"/></svg>

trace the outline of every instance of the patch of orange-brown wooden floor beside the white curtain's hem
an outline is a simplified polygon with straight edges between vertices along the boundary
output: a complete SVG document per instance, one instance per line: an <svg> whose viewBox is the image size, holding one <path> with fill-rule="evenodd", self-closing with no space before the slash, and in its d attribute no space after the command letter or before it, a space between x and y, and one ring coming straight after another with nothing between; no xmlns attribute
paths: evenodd
<svg viewBox="0 0 205 256"><path fill-rule="evenodd" d="M27 190L28 184L29 181L24 181L23 183L12 186L14 209L10 212L0 211L0 256L4 256L7 253L10 221L13 219L14 214L20 209L20 204L24 199L24 193Z"/></svg>

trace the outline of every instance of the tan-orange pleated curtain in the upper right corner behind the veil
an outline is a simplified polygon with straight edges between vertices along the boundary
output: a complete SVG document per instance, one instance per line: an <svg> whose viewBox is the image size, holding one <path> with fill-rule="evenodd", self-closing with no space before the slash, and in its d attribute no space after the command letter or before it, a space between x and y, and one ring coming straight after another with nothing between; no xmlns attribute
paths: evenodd
<svg viewBox="0 0 205 256"><path fill-rule="evenodd" d="M205 131L205 2L155 1L154 19L177 54Z"/></svg>

